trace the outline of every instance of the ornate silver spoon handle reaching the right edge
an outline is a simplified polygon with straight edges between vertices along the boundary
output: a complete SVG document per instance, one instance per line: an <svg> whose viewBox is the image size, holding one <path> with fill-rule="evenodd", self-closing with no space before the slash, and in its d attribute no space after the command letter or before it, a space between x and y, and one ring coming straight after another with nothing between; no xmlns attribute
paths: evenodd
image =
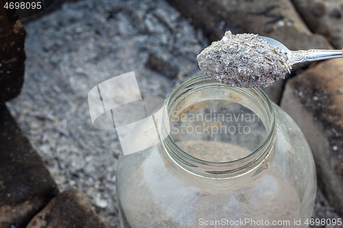
<svg viewBox="0 0 343 228"><path fill-rule="evenodd" d="M327 60L331 58L342 58L343 50L307 50L292 51L291 60L293 64L306 61Z"/></svg>

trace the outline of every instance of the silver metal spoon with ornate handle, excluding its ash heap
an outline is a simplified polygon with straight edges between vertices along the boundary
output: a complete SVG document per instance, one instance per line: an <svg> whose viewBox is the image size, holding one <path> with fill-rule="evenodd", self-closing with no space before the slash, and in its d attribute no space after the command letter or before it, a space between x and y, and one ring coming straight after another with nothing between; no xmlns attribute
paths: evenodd
<svg viewBox="0 0 343 228"><path fill-rule="evenodd" d="M281 51L286 53L287 58L289 60L289 64L294 65L299 62L307 62L307 61L317 61L317 60L327 60L332 58L342 58L342 50L307 50L307 51L290 51L285 47L285 45L281 44L281 42L274 40L272 38L268 38L265 36L259 36L259 38L263 40L267 40L270 45L279 47Z"/></svg>

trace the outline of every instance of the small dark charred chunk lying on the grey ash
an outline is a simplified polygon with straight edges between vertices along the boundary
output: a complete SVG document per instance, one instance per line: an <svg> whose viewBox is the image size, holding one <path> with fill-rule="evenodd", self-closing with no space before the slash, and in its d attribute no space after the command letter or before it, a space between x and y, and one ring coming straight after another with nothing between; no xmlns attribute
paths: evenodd
<svg viewBox="0 0 343 228"><path fill-rule="evenodd" d="M145 66L171 79L178 76L177 68L171 66L168 62L165 62L165 60L158 58L152 53L150 53L149 58L147 58L147 63Z"/></svg>

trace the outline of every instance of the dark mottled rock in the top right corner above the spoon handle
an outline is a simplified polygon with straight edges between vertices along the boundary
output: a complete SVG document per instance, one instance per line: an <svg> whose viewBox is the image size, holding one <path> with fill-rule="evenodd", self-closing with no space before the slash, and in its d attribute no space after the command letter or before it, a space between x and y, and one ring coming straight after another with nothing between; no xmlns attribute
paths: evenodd
<svg viewBox="0 0 343 228"><path fill-rule="evenodd" d="M343 47L341 0L292 0L309 29L327 36L335 49Z"/></svg>

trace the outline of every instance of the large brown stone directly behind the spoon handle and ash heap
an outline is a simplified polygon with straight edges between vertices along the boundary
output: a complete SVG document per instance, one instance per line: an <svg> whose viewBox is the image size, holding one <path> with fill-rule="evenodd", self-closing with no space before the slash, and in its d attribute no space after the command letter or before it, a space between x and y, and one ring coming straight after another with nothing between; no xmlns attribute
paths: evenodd
<svg viewBox="0 0 343 228"><path fill-rule="evenodd" d="M187 8L187 4L197 4L199 9L206 8L220 21L235 23L244 32L279 40L290 50L332 49L324 36L312 34L309 31L289 0L209 0L201 1L201 5L199 4L200 1L197 0L178 0L176 2L177 4L172 3L171 5L178 8L185 16L196 9L196 7L193 9ZM169 3L171 3L171 0ZM196 13L200 14L201 10L193 12L193 14ZM204 22L206 19L206 17L198 16L200 26L206 23ZM224 36L224 31L220 36Z"/></svg>

